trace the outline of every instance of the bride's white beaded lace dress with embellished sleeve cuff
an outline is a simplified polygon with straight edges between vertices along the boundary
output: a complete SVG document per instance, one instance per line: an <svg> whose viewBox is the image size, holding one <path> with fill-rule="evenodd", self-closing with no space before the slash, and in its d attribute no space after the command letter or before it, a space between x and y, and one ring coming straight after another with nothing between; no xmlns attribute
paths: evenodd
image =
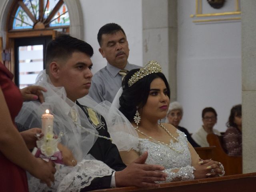
<svg viewBox="0 0 256 192"><path fill-rule="evenodd" d="M170 147L152 142L146 138L139 138L136 150L139 155L148 151L146 164L161 165L166 168L164 172L168 174L166 182L178 177L179 180L194 179L194 167L191 166L191 155L188 148L186 135L177 129L178 142L170 140ZM173 150L174 149L174 150Z"/></svg>

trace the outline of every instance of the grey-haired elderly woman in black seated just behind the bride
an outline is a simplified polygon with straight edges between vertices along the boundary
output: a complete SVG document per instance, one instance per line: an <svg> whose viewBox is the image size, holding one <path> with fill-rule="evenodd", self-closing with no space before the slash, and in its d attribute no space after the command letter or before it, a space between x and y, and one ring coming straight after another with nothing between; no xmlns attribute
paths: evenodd
<svg viewBox="0 0 256 192"><path fill-rule="evenodd" d="M192 139L188 130L184 127L179 126L182 116L183 116L183 108L182 108L181 104L177 101L170 103L170 106L169 106L169 109L167 112L167 116L166 116L167 117L166 122L172 124L178 130L184 132L187 136L188 142L190 142L190 144L193 147L200 147L200 145L198 145Z"/></svg>

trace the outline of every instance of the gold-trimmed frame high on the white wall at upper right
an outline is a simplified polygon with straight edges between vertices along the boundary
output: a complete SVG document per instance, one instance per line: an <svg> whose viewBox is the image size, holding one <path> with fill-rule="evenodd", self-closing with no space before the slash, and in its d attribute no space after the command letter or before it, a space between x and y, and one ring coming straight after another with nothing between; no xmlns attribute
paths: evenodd
<svg viewBox="0 0 256 192"><path fill-rule="evenodd" d="M214 0L212 0L214 1ZM205 0L206 2L206 0ZM208 2L208 0L207 0ZM207 3L206 2L206 3ZM203 13L202 10L202 0L196 0L196 14L191 14L190 18L194 18L194 23L200 22L222 22L222 21L234 21L241 20L241 9L240 9L240 0L234 0L234 10L228 12L216 12L216 13ZM213 17L213 18L204 18L204 17ZM199 19L204 18L204 19Z"/></svg>

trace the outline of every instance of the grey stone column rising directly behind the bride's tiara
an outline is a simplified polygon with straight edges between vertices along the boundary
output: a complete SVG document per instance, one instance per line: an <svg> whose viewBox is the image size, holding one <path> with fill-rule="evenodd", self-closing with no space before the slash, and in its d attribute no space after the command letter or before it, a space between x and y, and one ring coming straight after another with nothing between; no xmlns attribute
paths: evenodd
<svg viewBox="0 0 256 192"><path fill-rule="evenodd" d="M160 63L171 88L171 100L177 100L177 0L142 0L143 64Z"/></svg>

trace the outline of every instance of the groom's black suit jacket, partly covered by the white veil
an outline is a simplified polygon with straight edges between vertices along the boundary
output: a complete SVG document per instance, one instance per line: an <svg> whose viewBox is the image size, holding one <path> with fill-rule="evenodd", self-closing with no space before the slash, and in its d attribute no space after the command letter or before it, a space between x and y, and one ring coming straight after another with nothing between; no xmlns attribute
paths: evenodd
<svg viewBox="0 0 256 192"><path fill-rule="evenodd" d="M78 104L78 106L82 108L86 116L90 118L88 115L88 112L86 111L86 106L82 106L78 102L76 102L76 104ZM99 132L99 135L110 138L104 117L102 117L101 115L99 115L99 117L100 117L100 121L104 122L104 127L101 127L98 129L96 128ZM122 159L120 157L120 154L118 152L116 145L113 144L110 140L107 140L104 138L98 138L94 143L94 145L92 146L92 148L90 149L89 154L94 156L96 160L100 160L104 162L110 168L116 171L120 171L126 168L126 165L122 162ZM111 178L112 178L111 175L104 176L102 178L96 178L92 181L90 186L84 188L83 190L81 190L81 192L96 190L100 188L110 188Z"/></svg>

